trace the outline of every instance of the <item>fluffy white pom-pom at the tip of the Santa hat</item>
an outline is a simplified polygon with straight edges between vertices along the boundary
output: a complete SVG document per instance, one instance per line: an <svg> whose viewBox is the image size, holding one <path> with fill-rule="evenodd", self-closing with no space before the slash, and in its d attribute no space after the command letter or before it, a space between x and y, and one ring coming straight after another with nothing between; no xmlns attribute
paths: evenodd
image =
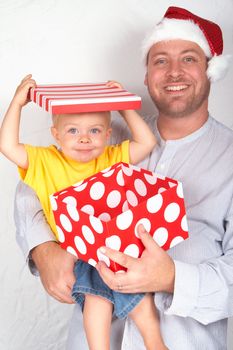
<svg viewBox="0 0 233 350"><path fill-rule="evenodd" d="M231 55L215 55L209 60L206 73L211 83L225 77L231 58Z"/></svg>

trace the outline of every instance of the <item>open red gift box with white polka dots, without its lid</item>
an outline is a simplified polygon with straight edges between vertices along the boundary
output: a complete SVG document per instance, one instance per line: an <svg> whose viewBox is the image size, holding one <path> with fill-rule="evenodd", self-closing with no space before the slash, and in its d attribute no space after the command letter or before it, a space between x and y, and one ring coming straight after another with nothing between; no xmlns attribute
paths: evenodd
<svg viewBox="0 0 233 350"><path fill-rule="evenodd" d="M139 224L166 250L188 238L182 184L126 163L50 199L62 248L93 266L104 260L113 271L123 269L101 254L104 245L140 257Z"/></svg>

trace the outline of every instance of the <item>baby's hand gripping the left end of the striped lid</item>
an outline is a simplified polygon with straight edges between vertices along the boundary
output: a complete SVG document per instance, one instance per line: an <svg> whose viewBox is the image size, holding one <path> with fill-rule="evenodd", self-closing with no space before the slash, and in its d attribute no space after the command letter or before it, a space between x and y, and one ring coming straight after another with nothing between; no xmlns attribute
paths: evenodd
<svg viewBox="0 0 233 350"><path fill-rule="evenodd" d="M33 87L36 87L36 82L32 79L32 75L28 74L17 87L12 103L18 104L19 107L25 106L30 101L28 98L29 89Z"/></svg>

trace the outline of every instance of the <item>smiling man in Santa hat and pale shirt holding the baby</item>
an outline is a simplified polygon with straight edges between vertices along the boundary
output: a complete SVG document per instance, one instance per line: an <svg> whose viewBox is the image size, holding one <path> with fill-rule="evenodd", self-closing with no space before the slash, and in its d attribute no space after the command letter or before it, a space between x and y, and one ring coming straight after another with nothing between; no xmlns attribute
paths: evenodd
<svg viewBox="0 0 233 350"><path fill-rule="evenodd" d="M157 122L150 120L158 146L140 165L183 183L190 238L167 254L141 228L142 257L134 259L105 247L103 252L128 271L114 274L104 263L98 271L111 288L123 293L155 293L169 349L224 350L227 318L233 315L233 132L208 113L210 82L223 77L228 63L222 55L221 30L170 7L145 41L144 55L145 84L159 110ZM37 214L41 215L39 210ZM35 220L36 216L31 223ZM45 236L41 217L39 225ZM27 228L28 237L36 232L33 228ZM71 303L74 258L54 242L40 244L48 239L38 236L37 244L26 247L30 261L49 294ZM25 248L27 235L21 240ZM57 265L63 269L54 271ZM72 335L81 329L75 310ZM69 338L72 345L69 342L67 349L86 349L81 338ZM114 350L118 348L119 342ZM122 348L144 349L132 323L126 323Z"/></svg>

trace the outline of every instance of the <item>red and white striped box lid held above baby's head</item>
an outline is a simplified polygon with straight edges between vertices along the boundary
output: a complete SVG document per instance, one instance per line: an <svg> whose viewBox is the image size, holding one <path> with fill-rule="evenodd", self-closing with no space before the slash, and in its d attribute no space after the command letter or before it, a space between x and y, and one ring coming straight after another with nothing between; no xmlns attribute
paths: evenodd
<svg viewBox="0 0 233 350"><path fill-rule="evenodd" d="M141 98L106 83L37 85L30 99L50 114L140 109Z"/></svg>

